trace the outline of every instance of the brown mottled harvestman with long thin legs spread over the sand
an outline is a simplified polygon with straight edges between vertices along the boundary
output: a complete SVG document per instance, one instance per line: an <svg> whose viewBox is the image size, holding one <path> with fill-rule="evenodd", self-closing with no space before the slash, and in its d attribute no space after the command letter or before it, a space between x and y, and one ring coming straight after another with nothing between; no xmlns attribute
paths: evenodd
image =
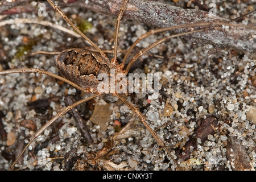
<svg viewBox="0 0 256 182"><path fill-rule="evenodd" d="M140 36L134 42L134 44L126 52L126 55L123 58L122 63L118 64L117 63L117 42L118 42L119 26L120 26L122 15L125 11L127 2L129 0L125 0L123 2L122 6L121 6L121 9L119 10L119 14L118 14L118 18L117 18L117 24L116 24L116 27L115 27L114 57L111 61L109 61L109 59L106 57L105 53L100 48L98 48L96 46L96 44L94 44L89 38L87 38L71 22L71 20L68 19L68 17L63 13L63 11L60 10L59 7L57 7L51 0L47 0L47 1L53 7L53 9L55 9L55 11L57 11L57 13L59 13L61 15L61 17L68 24L70 24L72 26L72 28L74 28L82 36L82 38L84 38L86 41L88 41L98 51L98 53L90 52L86 49L80 49L80 48L67 49L67 50L61 52L56 58L56 64L57 64L57 67L59 68L59 71L60 71L60 73L63 77L57 76L57 75L55 75L53 73L50 73L50 72L47 72L47 71L43 71L43 70L38 69L38 68L10 69L10 70L7 70L7 71L0 72L0 75L7 75L7 74L10 74L10 73L40 73L40 74L48 75L48 76L57 78L61 81L67 82L68 84L74 86L75 88L81 90L82 92L95 93L95 94L93 96L88 97L88 98L84 98L80 101L77 101L75 104L67 106L65 109L60 111L60 113L58 113L55 117L53 117L51 120L49 120L40 130L38 130L34 134L34 136L28 142L27 146L24 147L23 151L20 153L18 158L16 158L16 160L14 161L14 163L11 165L11 167L9 169L13 169L16 162L18 161L20 156L22 156L22 154L26 151L28 146L30 146L30 144L35 140L35 138L39 137L39 135L42 134L44 132L44 130L47 129L47 127L52 125L52 123L55 122L57 118L62 117L65 113L67 113L69 110L73 109L74 107L76 107L76 106L78 106L78 105L80 105L80 104L82 104L86 101L92 100L93 98L96 98L96 97L98 97L102 94L102 93L97 91L97 85L100 83L100 81L97 80L97 77L96 77L98 75L98 73L100 73L100 72L107 73L109 75L109 77L113 77L113 76L115 76L119 73L124 73L125 75L127 75L127 73L129 72L129 69L131 68L131 65L133 65L133 63L139 57L141 57L145 52L147 52L151 48L157 46L160 43L165 42L168 39L171 39L171 38L174 38L174 37L177 37L177 36L192 34L192 33L195 33L195 32L205 31L206 29L209 29L209 26L211 26L211 25L215 25L215 26L218 26L218 25L219 26L220 25L242 26L242 25L233 25L233 24L229 24L229 23L202 22L202 23L194 23L194 24L184 24L184 25L181 25L181 26L174 26L174 27L167 27L167 28L159 28L158 30L151 30L151 31L147 32L146 34ZM207 27L207 28L199 29L199 30L193 30L192 29L192 27L200 27L200 26L204 26L204 27ZM170 36L167 36L166 38L159 39L158 41L150 44L150 46L142 49L142 51L139 51L133 57L133 59L131 59L131 61L127 65L126 69L123 69L123 68L125 68L125 61L127 59L127 55L131 52L131 49L133 49L135 47L135 45L138 42L140 42L142 39L145 39L148 36L156 34L158 32L170 31L170 30L175 30L177 28L186 28L186 27L191 27L192 31L184 32L182 34L177 34L177 35L170 35ZM243 26L243 27L246 27L246 26ZM82 67L82 69L79 69L79 67L77 65L80 65L80 68L82 67L82 65L84 65L84 66ZM95 68L95 69L92 70L91 69L92 67ZM115 70L114 75L113 75L113 73L110 73L110 69ZM118 84L118 82L120 82L120 81L121 81L120 79L115 80L115 85ZM115 85L110 85L110 89L111 89L112 86L115 86ZM166 152L168 153L168 155L172 158L172 160L174 160L175 164L177 165L177 168L179 168L180 170L183 170L179 166L179 164L176 162L176 160L174 159L174 156L172 156L171 152L165 146L163 140L160 139L160 137L158 137L158 135L155 133L155 131L152 130L151 127L148 125L148 123L146 122L146 117L144 117L144 115L136 107L134 107L130 102L126 101L117 92L112 93L112 94L113 94L113 96L118 97L119 100L121 100L123 103L125 103L128 107L130 107L131 110L134 111L135 114L138 115L139 119L141 119L141 122L146 127L146 129L148 131L150 131L150 133L156 139L158 144L161 147L163 147L164 150L166 150Z"/></svg>

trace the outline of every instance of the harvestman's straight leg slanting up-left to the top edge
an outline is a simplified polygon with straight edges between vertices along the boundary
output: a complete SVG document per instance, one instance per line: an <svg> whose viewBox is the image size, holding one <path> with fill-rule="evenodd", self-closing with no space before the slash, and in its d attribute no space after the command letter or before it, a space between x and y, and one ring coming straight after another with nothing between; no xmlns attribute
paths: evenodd
<svg viewBox="0 0 256 182"><path fill-rule="evenodd" d="M85 40L87 40L94 48L96 48L97 51L100 52L100 54L101 54L103 57L106 57L105 53L102 52L101 49L100 49L98 46L96 46L96 44L94 44L94 43L92 42L92 40L90 40L86 35L84 35L84 34L75 26L75 24L73 24L73 23L71 22L71 20L68 19L68 16L65 15L65 14L63 13L63 11L61 11L60 8L57 7L57 6L55 5L55 3L52 2L52 0L47 0L47 1L48 1L49 4L53 7L53 9L54 9L55 11L57 11L57 13L59 13L59 14L61 15L61 17L62 17L72 28L74 28L75 31L77 31Z"/></svg>

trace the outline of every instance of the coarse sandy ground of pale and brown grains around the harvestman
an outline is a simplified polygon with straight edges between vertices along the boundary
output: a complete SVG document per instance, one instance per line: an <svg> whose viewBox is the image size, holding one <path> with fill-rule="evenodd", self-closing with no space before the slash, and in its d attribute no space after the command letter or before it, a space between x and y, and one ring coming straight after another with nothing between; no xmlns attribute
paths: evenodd
<svg viewBox="0 0 256 182"><path fill-rule="evenodd" d="M184 7L183 2L173 4ZM223 3L218 7L217 13L224 18L236 18L244 14L251 4L253 3L250 1ZM67 8L64 11L72 21L88 20L92 27L86 35L101 49L113 49L115 17L80 9ZM18 18L46 20L70 28L53 11L41 18L38 14L19 14L7 16L4 20ZM250 23L253 19L255 20L255 15L246 18L244 22ZM122 20L118 50L126 50L139 35L150 29L138 22ZM59 52L67 48L88 46L82 38L38 24L12 24L0 27L0 30L2 70L40 68L59 74L55 65L56 55L30 53ZM139 43L133 53L167 35L168 32L152 35ZM131 73L159 73L160 96L156 100L148 100L148 94L129 94L126 99L146 115L147 122L166 142L166 146L184 169L254 169L256 60L251 53L239 53L233 49L209 55L208 51L212 48L209 44L197 45L175 38L151 49L135 63ZM24 49L30 52L26 55ZM111 60L113 55L110 53L108 56ZM118 60L122 60L123 56L124 53L118 53ZM2 133L0 137L0 169L10 167L15 152L20 151L23 141L27 143L34 133L20 126L20 121L31 120L38 130L66 106L65 96L74 96L76 100L88 97L88 94L83 94L64 82L35 73L0 76L0 90L2 128L7 134L6 138ZM39 102L31 106L32 101ZM104 105L101 110L103 118L100 120L108 122L105 131L92 122L97 119L90 118L94 105ZM72 170L176 169L166 151L158 146L138 117L117 98L111 95L101 96L77 109L89 128L93 144L88 144L84 137L80 137L76 119L68 113L31 144L20 162L22 165L15 169L64 169L64 164L67 163L63 159L64 155L71 154L68 151L73 151L74 148L74 158L71 160L75 161L75 166L68 168ZM199 132L199 120L205 121L207 118L215 118L217 125L208 126L214 128L214 131L202 142L195 135ZM118 131L116 120L121 123L121 127L128 122L133 123L109 147L110 136ZM189 139L195 145L189 146L189 159L184 160L181 156L184 155L183 149ZM95 154L103 147L109 147L110 151L97 158ZM241 152L245 159L238 160L236 156Z"/></svg>

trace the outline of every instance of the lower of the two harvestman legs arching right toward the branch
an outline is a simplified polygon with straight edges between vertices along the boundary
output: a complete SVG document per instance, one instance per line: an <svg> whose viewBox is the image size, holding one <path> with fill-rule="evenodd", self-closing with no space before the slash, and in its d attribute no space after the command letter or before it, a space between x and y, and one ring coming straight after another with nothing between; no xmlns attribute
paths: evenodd
<svg viewBox="0 0 256 182"><path fill-rule="evenodd" d="M182 35L186 35L186 34L192 34L192 33L195 33L195 32L200 32L200 31L204 31L205 29L200 29L200 30L196 30L196 31L190 31L190 32L185 32L185 33L182 33L182 34L176 34L176 35L170 35L170 36L167 36L165 38L162 38L152 44L150 44L150 46L142 49L142 51L139 51L137 53L137 55L133 56L133 59L131 59L130 63L127 65L126 67L126 73L129 72L129 69L131 68L131 65L133 65L135 63L135 61L141 57L143 55L143 53L147 52L148 50L152 49L153 47L157 46L158 44L161 44L163 42L165 42L166 40L168 39L171 39L171 38L175 38L176 36L182 36Z"/></svg>

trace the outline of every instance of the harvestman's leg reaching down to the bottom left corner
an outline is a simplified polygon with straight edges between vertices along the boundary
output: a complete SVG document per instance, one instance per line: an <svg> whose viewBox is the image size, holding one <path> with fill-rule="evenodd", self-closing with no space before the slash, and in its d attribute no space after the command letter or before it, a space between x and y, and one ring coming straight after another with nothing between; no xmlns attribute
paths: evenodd
<svg viewBox="0 0 256 182"><path fill-rule="evenodd" d="M20 156L22 156L24 154L24 152L26 151L27 147L30 146L30 144L37 138L39 137L40 134L42 134L44 132L44 130L46 130L49 126L52 125L53 122L56 121L56 119L62 117L65 113L67 113L69 110L73 109L74 107L89 101L95 97L97 97L98 94L94 94L93 96L90 96L88 98L84 98L80 101L75 102L74 104L67 106L65 109L63 109L62 111L60 111L60 113L58 113L57 115L55 115L55 117L53 117L50 121L48 121L40 130L38 130L34 136L30 139L30 142L28 142L27 146L23 149L23 151L19 154L18 158L15 159L14 163L11 165L11 167L9 168L9 171L11 169L13 169L13 167L15 166L16 162L19 160Z"/></svg>

